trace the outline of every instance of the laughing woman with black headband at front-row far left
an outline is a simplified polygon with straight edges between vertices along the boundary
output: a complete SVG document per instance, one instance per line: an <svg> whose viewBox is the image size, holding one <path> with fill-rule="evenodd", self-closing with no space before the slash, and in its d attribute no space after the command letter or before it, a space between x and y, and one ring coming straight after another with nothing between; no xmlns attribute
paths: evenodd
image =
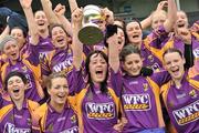
<svg viewBox="0 0 199 133"><path fill-rule="evenodd" d="M4 80L4 90L11 102L0 110L0 132L31 133L32 113L39 103L25 99L28 79L21 72L10 72Z"/></svg>

